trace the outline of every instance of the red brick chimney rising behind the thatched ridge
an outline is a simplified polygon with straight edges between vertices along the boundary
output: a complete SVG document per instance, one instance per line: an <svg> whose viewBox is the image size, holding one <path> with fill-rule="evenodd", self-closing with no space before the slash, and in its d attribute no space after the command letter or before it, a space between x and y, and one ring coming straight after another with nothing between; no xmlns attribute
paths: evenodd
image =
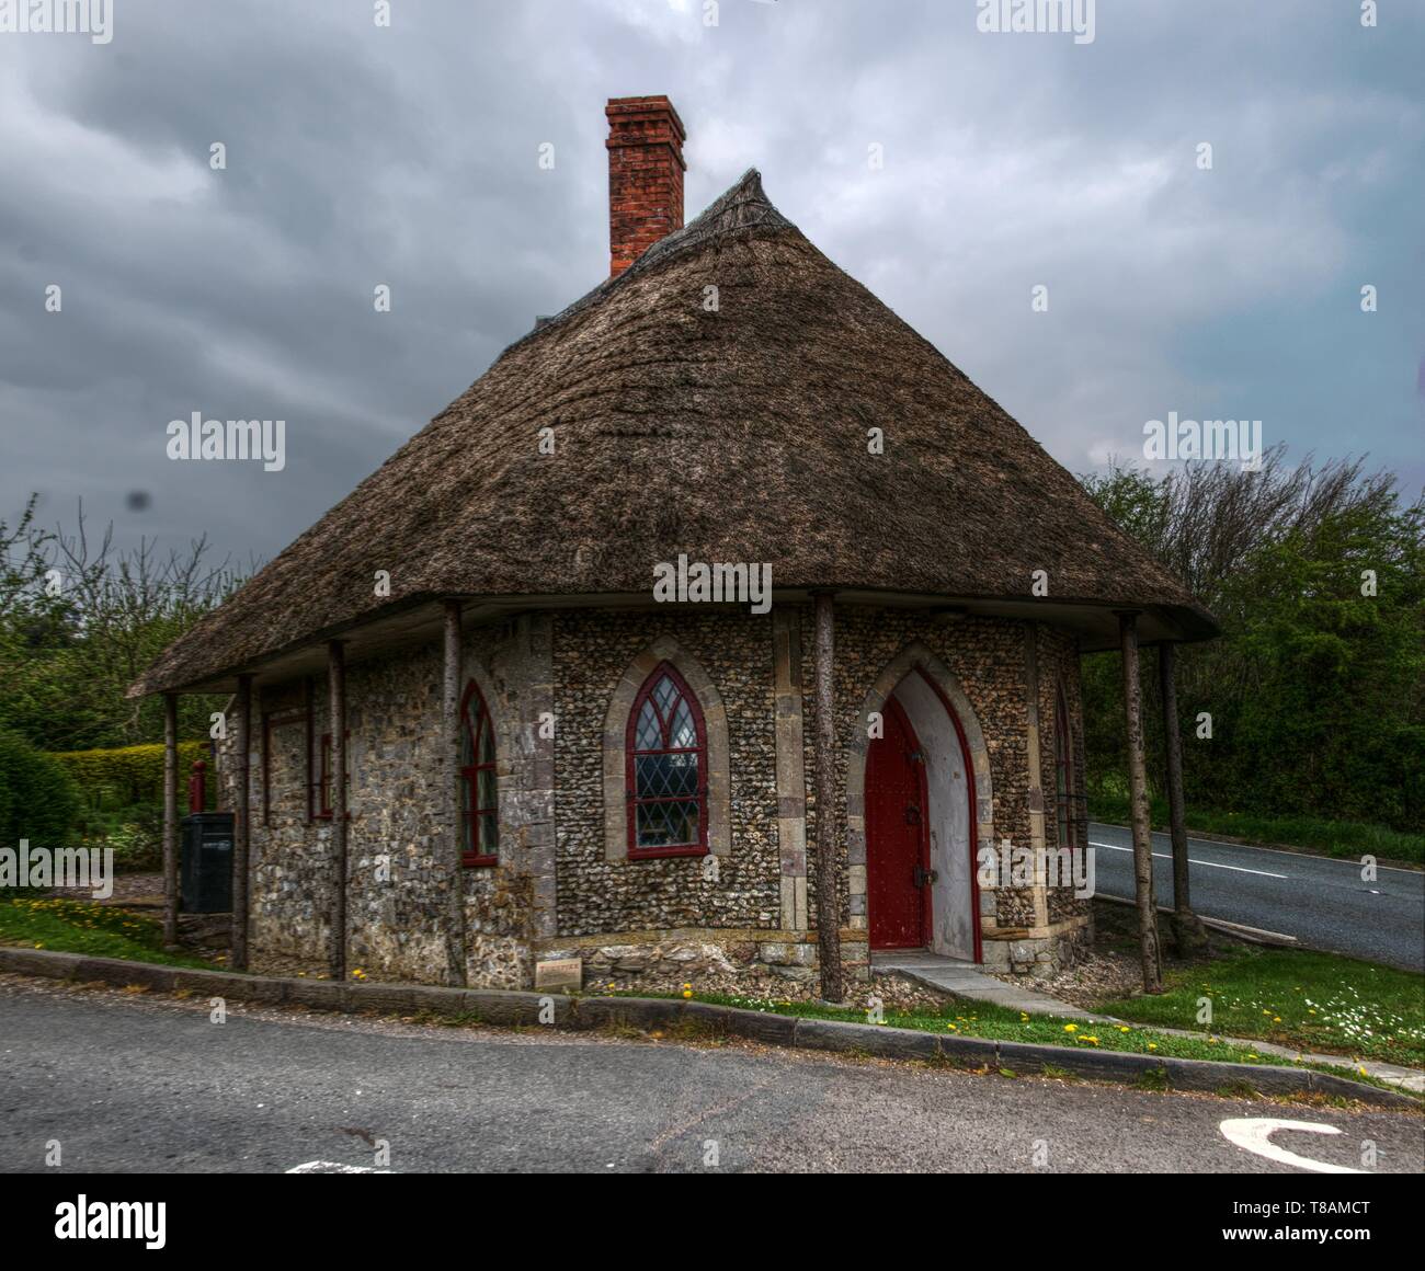
<svg viewBox="0 0 1425 1271"><path fill-rule="evenodd" d="M683 141L667 97L613 97L608 117L608 276L683 228Z"/></svg>

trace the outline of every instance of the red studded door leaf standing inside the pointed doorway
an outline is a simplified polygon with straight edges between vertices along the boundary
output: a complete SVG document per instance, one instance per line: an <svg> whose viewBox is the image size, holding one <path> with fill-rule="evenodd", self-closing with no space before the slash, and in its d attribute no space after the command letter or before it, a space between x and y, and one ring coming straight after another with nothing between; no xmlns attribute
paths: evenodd
<svg viewBox="0 0 1425 1271"><path fill-rule="evenodd" d="M919 949L929 932L925 759L901 704L882 708L866 752L866 908L872 949Z"/></svg>

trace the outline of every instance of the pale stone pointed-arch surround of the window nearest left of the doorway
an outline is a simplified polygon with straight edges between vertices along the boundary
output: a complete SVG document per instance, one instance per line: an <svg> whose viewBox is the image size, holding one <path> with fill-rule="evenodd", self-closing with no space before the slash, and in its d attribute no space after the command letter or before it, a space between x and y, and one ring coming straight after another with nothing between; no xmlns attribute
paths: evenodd
<svg viewBox="0 0 1425 1271"><path fill-rule="evenodd" d="M627 740L628 718L644 683L660 663L671 664L698 700L707 728L707 841L708 852L725 856L732 849L732 774L722 695L703 664L671 636L660 636L623 673L604 712L604 859L640 861L628 855Z"/></svg>

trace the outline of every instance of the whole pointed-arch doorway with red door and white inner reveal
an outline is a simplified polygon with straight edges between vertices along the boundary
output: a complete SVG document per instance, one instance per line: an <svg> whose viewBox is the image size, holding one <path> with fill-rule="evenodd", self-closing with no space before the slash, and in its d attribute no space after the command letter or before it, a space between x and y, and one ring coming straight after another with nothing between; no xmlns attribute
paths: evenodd
<svg viewBox="0 0 1425 1271"><path fill-rule="evenodd" d="M878 708L882 735L866 747L862 791L871 948L978 962L976 768L966 730L919 661L899 670ZM978 738L972 715L970 727Z"/></svg>

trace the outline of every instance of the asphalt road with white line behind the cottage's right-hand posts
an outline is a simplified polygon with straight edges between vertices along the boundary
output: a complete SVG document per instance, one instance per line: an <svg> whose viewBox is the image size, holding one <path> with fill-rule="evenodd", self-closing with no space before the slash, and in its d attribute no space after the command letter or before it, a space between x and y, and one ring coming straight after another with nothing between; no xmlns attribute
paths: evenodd
<svg viewBox="0 0 1425 1271"><path fill-rule="evenodd" d="M1133 898L1133 835L1117 825L1089 825L1097 846L1096 889ZM1378 868L1361 881L1357 861L1250 848L1188 838L1193 908L1204 918L1295 936L1308 949L1349 953L1425 970L1425 873ZM1173 903L1173 845L1153 835L1153 888Z"/></svg>

